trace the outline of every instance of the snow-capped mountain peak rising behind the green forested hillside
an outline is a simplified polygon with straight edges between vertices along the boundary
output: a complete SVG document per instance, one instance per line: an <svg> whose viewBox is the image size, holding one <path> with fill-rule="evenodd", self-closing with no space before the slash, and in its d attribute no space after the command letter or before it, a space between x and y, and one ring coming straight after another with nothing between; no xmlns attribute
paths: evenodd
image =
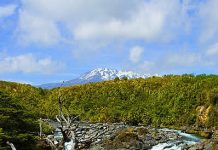
<svg viewBox="0 0 218 150"><path fill-rule="evenodd" d="M120 79L122 77L127 77L128 79L134 79L134 78L148 78L151 77L150 74L139 74L132 71L118 71L115 69L108 69L108 68L97 68L92 71L89 71L83 75L81 75L79 78L65 81L62 85L62 83L48 83L43 84L38 87L45 88L45 89L51 89L62 86L70 86L75 84L85 84L90 82L100 82L100 81L106 81L106 80L113 80L116 77L119 77ZM157 76L157 75L156 75Z"/></svg>

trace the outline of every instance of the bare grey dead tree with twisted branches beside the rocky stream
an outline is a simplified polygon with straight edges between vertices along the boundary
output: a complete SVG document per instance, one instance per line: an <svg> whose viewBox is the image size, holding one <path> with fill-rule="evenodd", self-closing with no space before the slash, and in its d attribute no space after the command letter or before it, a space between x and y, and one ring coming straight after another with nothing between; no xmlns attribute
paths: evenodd
<svg viewBox="0 0 218 150"><path fill-rule="evenodd" d="M90 137L86 139L79 139L76 136L76 129L78 128L79 124L76 123L77 117L70 118L67 114L66 116L63 113L63 99L62 99L61 92L59 89L58 93L58 105L59 105L59 115L56 116L56 120L59 123L59 129L63 138L60 141L56 141L54 136L47 136L45 140L50 145L53 150L75 150L81 148L89 148L90 145L102 134L107 132L107 129L100 133L90 135ZM78 147L78 143L82 143L82 146Z"/></svg>

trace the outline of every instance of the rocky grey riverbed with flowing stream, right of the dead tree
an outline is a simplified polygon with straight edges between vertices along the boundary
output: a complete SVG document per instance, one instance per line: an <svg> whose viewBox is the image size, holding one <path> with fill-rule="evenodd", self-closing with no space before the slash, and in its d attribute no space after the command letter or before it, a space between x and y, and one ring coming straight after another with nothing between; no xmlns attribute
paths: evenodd
<svg viewBox="0 0 218 150"><path fill-rule="evenodd" d="M78 124L75 131L76 138L81 141L78 143L78 149L210 150L214 146L212 139L200 139L180 130L129 126L124 123ZM83 148L82 141L90 137L96 138L89 147ZM58 130L55 132L55 138L61 138Z"/></svg>

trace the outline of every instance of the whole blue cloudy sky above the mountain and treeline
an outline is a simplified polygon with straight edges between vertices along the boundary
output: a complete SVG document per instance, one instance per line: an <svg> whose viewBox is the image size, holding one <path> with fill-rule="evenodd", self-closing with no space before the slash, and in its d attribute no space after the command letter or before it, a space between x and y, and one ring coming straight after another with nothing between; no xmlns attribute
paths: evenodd
<svg viewBox="0 0 218 150"><path fill-rule="evenodd" d="M95 68L218 74L217 0L1 0L0 80Z"/></svg>

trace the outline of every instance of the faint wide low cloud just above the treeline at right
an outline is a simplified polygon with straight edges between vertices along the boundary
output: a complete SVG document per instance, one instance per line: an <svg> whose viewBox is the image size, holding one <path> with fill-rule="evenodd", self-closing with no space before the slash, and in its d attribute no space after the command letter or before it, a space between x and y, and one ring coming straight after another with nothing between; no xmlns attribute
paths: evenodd
<svg viewBox="0 0 218 150"><path fill-rule="evenodd" d="M136 71L144 73L193 73L201 67L213 67L216 63L211 61L204 53L178 51L177 53L164 54L155 60L145 60L132 66ZM191 71L191 72L189 72ZM198 70L197 70L198 71Z"/></svg>

